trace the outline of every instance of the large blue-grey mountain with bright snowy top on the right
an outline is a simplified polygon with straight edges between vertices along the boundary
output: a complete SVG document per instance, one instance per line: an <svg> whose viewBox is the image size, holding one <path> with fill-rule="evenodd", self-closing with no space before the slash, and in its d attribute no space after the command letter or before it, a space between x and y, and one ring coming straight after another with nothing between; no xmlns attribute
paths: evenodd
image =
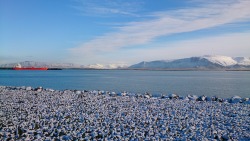
<svg viewBox="0 0 250 141"><path fill-rule="evenodd" d="M205 55L172 61L141 62L129 68L159 68L159 69L223 69L223 68L250 68L250 58Z"/></svg>

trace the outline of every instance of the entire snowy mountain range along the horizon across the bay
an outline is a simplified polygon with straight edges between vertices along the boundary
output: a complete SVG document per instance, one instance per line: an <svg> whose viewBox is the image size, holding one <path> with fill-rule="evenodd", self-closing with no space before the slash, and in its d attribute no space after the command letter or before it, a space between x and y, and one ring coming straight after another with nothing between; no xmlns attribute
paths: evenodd
<svg viewBox="0 0 250 141"><path fill-rule="evenodd" d="M18 62L23 67L76 68L76 69L164 69L164 70L250 70L250 57L228 57L219 55L204 55L172 60L142 61L131 66L125 64L90 64L46 63L35 61ZM0 65L0 68L12 68L18 63Z"/></svg>

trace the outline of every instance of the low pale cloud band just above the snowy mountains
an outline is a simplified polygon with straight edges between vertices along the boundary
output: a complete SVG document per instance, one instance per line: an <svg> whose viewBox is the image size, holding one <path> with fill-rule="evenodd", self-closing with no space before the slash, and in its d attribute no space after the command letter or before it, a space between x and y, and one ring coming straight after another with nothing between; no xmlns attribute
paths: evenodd
<svg viewBox="0 0 250 141"><path fill-rule="evenodd" d="M174 43L152 44L153 47L131 50L115 50L112 53L75 56L84 58L78 63L134 64L140 61L179 59L191 56L225 55L250 57L250 31Z"/></svg>

